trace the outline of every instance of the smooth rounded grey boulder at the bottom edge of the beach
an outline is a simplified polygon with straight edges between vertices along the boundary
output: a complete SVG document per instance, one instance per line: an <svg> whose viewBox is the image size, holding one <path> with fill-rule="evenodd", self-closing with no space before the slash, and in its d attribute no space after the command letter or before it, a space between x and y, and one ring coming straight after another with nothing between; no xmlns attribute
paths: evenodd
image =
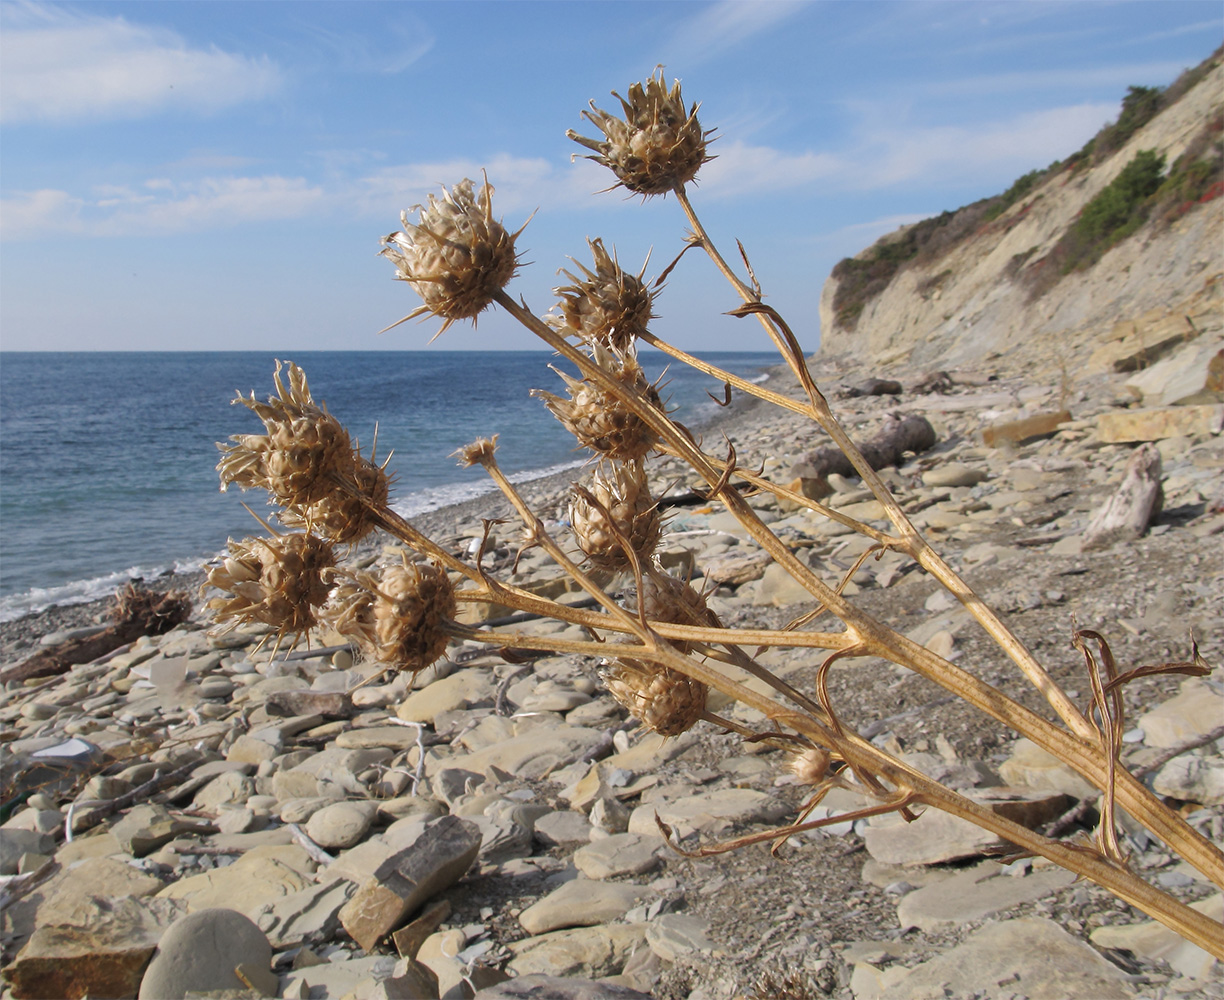
<svg viewBox="0 0 1224 1000"><path fill-rule="evenodd" d="M163 935L141 980L140 1000L248 987L274 995L271 965L272 945L251 920L233 909L201 909L175 920ZM248 983L239 978L239 968Z"/></svg>

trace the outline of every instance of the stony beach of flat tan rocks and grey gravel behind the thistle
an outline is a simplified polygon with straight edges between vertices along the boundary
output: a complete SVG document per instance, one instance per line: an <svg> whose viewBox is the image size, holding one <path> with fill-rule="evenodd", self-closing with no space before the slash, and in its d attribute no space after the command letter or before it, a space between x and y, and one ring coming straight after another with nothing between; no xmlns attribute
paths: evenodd
<svg viewBox="0 0 1224 1000"><path fill-rule="evenodd" d="M1122 759L1151 765L1147 783L1224 843L1219 408L1147 406L1113 373L1066 383L983 366L918 392L925 372L884 372L871 375L900 393L856 394L864 373L849 365L820 359L812 371L859 442L890 414L929 421L934 447L881 475L1072 700L1089 694L1075 627L1105 635L1125 668L1187 660L1193 636L1217 670L1127 685ZM767 386L799 393L781 371ZM1212 412L1195 422L1170 409ZM698 433L711 454L730 442L742 465L782 483L809 479L827 443L798 416L741 399ZM1142 443L1159 453L1160 513L1138 536L1086 546ZM574 475L520 487L562 541ZM656 496L699 486L673 459L651 476ZM884 526L857 479L827 485L824 503ZM870 546L767 494L753 504L831 581ZM490 494L412 523L469 556L482 519L502 520L487 569L508 579L518 558L517 584L581 599L539 550L519 557L512 514ZM715 503L672 508L660 557L728 625L781 628L810 606ZM350 558L399 551L377 537ZM925 814L903 834L878 818L799 835L778 858L767 845L681 856L656 815L694 848L786 823L804 789L782 754L709 723L670 739L641 731L602 689L597 657L508 662L453 643L410 683L327 636L273 655L258 628L214 630L196 596L202 574L143 583L188 591L191 619L6 685L5 996L1224 996L1211 956L1143 913L1042 859L1000 863L1004 846L984 832ZM968 612L900 554L868 559L843 592L1050 715ZM0 662L104 613L94 602L0 623ZM586 638L547 619L496 628ZM800 689L819 666L804 650L761 662ZM878 745L979 800L1023 802L1033 829L1094 798L900 667L838 663L829 690ZM734 704L718 711L764 722ZM848 812L851 798L819 808ZM1122 836L1133 870L1224 919L1219 887L1133 824Z"/></svg>

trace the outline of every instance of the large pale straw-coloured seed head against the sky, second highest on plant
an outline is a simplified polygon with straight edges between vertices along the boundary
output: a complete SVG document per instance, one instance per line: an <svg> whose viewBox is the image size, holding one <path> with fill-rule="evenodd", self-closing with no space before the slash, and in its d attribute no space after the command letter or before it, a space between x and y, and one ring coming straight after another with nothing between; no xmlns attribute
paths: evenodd
<svg viewBox="0 0 1224 1000"><path fill-rule="evenodd" d="M442 333L455 319L475 319L514 277L519 263L514 241L523 229L512 235L493 219L487 180L479 195L472 186L464 177L449 191L443 187L441 201L430 195L428 206L412 206L421 213L416 224L401 212L404 231L383 239L382 256L424 302L399 323L432 312L446 321Z"/></svg>

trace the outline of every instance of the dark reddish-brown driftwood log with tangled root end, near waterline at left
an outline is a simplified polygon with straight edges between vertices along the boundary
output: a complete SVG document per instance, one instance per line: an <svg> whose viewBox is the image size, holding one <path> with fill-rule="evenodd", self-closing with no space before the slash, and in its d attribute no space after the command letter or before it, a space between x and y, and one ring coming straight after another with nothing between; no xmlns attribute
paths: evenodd
<svg viewBox="0 0 1224 1000"><path fill-rule="evenodd" d="M158 592L133 584L115 595L110 617L114 624L81 639L69 639L39 650L20 663L0 671L0 684L67 673L77 663L88 663L142 635L163 635L191 616L186 591Z"/></svg>

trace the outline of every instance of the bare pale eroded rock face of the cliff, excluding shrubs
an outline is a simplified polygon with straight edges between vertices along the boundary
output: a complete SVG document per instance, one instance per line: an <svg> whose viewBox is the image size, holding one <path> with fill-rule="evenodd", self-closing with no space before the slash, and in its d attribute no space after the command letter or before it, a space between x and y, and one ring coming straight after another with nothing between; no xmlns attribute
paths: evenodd
<svg viewBox="0 0 1224 1000"><path fill-rule="evenodd" d="M1224 65L1100 164L1053 176L939 259L905 264L853 328L837 322L838 283L830 278L820 301L820 353L862 359L873 373L988 361L1075 371L1115 366L1122 353L1170 324L1184 324L1185 339L1219 339L1224 198L1195 204L1171 225L1148 223L1036 299L1023 269L1054 248L1140 149L1164 153L1171 164L1222 109Z"/></svg>

